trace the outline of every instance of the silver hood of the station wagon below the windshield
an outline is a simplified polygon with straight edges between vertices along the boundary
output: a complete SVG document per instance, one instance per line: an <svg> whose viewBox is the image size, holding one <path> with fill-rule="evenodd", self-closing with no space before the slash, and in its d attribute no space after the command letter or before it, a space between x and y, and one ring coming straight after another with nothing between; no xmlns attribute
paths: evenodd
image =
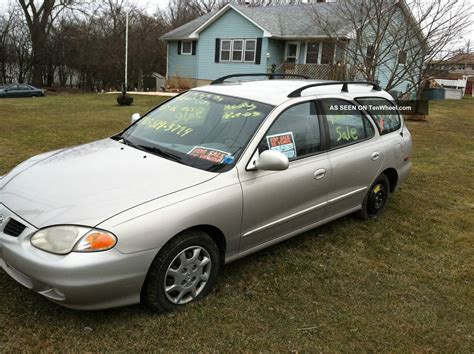
<svg viewBox="0 0 474 354"><path fill-rule="evenodd" d="M106 139L20 164L0 180L0 203L37 228L95 226L215 176Z"/></svg>

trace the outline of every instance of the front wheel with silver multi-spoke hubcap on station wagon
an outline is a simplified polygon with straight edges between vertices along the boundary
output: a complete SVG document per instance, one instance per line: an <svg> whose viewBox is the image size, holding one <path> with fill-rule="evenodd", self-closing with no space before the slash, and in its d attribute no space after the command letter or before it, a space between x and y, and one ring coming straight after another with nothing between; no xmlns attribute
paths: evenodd
<svg viewBox="0 0 474 354"><path fill-rule="evenodd" d="M205 297L216 282L219 249L205 232L185 231L158 253L142 288L142 303L162 313Z"/></svg>

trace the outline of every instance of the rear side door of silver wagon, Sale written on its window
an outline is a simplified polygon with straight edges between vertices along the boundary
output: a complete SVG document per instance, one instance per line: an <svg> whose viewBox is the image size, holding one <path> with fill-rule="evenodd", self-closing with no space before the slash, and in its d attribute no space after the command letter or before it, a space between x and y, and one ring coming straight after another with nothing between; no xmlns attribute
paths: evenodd
<svg viewBox="0 0 474 354"><path fill-rule="evenodd" d="M380 173L385 149L375 126L353 102L328 98L317 102L324 113L331 162L329 215L359 207Z"/></svg>

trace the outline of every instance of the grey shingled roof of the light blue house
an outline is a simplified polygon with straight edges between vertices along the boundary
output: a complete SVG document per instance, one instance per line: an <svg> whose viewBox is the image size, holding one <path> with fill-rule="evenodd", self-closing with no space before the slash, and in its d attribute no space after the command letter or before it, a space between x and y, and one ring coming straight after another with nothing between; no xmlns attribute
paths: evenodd
<svg viewBox="0 0 474 354"><path fill-rule="evenodd" d="M301 5L280 5L268 7L247 7L228 4L221 10L211 12L178 27L161 37L163 40L198 38L199 33L211 25L227 11L233 9L254 25L263 30L265 37L275 38L318 38L327 37L326 32L317 25L315 18L326 17L331 27L340 28L341 37L348 35L350 26L330 11L333 3Z"/></svg>

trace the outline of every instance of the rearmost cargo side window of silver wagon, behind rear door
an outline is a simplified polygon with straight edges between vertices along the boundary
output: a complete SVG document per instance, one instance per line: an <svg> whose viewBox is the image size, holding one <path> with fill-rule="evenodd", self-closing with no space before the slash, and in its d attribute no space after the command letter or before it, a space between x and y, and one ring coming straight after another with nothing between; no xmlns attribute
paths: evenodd
<svg viewBox="0 0 474 354"><path fill-rule="evenodd" d="M367 113L374 119L380 135L400 129L402 122L395 105L384 98L357 98L356 101L366 108Z"/></svg>

